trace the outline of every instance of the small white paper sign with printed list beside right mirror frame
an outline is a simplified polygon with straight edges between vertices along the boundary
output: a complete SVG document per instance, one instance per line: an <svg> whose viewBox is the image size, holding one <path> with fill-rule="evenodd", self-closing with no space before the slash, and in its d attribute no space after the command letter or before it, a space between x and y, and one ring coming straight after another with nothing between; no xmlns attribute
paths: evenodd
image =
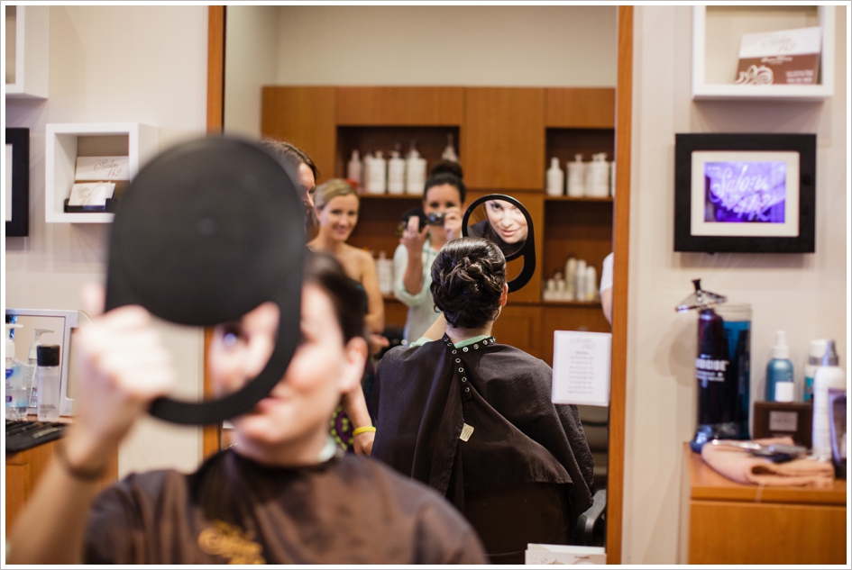
<svg viewBox="0 0 852 570"><path fill-rule="evenodd" d="M609 332L554 332L554 403L609 406Z"/></svg>

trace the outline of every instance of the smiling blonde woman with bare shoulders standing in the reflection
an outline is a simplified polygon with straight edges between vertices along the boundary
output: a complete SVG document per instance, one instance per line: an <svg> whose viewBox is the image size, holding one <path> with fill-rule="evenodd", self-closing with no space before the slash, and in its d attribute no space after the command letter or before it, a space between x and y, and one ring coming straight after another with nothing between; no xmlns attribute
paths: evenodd
<svg viewBox="0 0 852 570"><path fill-rule="evenodd" d="M346 275L360 289L367 307L364 325L370 333L371 353L376 353L389 344L381 336L385 309L379 290L376 262L363 249L346 243L358 223L359 206L358 193L344 179L332 178L318 185L314 194L317 233L307 247L334 256L344 267ZM369 363L368 373L371 374ZM370 454L374 431L362 391L353 391L344 396L343 402L334 412L331 432L344 449Z"/></svg>

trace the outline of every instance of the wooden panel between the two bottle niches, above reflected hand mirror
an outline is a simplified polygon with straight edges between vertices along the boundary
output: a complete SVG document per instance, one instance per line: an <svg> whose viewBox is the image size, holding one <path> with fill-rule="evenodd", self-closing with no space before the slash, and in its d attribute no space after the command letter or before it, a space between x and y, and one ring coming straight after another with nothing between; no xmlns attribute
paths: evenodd
<svg viewBox="0 0 852 570"><path fill-rule="evenodd" d="M545 90L467 87L461 133L464 183L483 190L545 187Z"/></svg>

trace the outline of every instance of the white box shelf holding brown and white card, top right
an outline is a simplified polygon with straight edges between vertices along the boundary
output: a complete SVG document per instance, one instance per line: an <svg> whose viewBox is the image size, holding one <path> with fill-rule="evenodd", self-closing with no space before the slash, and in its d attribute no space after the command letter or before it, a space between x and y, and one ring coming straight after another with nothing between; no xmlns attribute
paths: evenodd
<svg viewBox="0 0 852 570"><path fill-rule="evenodd" d="M821 101L834 95L835 9L825 5L692 7L692 99ZM743 33L822 28L817 85L736 85Z"/></svg>

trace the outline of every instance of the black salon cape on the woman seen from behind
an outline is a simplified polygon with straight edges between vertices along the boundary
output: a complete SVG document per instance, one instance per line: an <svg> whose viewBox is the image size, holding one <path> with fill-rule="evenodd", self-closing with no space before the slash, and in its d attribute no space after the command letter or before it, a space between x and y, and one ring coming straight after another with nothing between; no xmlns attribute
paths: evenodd
<svg viewBox="0 0 852 570"><path fill-rule="evenodd" d="M447 342L393 348L381 358L370 398L371 457L463 512L464 490L566 484L576 520L591 507L593 461L577 408L551 402L553 369L518 348L479 342L465 351ZM467 441L465 424L473 428Z"/></svg>

